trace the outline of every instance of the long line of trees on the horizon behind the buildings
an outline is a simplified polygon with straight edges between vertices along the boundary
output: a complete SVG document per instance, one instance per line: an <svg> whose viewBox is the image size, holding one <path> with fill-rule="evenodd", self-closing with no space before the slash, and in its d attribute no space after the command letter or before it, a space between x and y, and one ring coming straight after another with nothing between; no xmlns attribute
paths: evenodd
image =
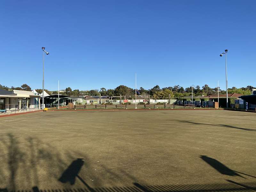
<svg viewBox="0 0 256 192"><path fill-rule="evenodd" d="M4 90L24 90L24 91L31 91L31 87L27 84L22 84L20 87L7 87L0 84L0 89ZM252 89L256 89L255 87L248 85L247 87L241 87L241 88L228 88L228 93L239 93L242 95L250 95L252 92ZM49 95L51 94L58 94L58 91L49 91L47 89L44 89L45 92L47 92ZM192 95L192 87L183 88L180 85L174 85L173 87L163 87L160 88L159 85L154 86L151 89L144 89L143 87L140 87L140 89L137 89L137 94L139 95L146 95L151 96L154 98L179 98L179 97L186 97ZM42 89L36 89L36 92L39 94L43 92ZM115 89L106 89L104 87L94 90L86 90L86 91L79 91L79 89L72 90L70 87L67 87L65 89L65 92L61 92L60 94L66 94L67 96L127 96L127 97L134 97L135 96L135 89L132 89L130 87L127 87L125 85L119 85ZM207 96L207 95L214 95L218 94L218 87L211 88L207 84L202 86L202 88L197 85L196 87L193 87L193 95L194 96ZM226 94L226 90L220 90L219 88L219 94Z"/></svg>

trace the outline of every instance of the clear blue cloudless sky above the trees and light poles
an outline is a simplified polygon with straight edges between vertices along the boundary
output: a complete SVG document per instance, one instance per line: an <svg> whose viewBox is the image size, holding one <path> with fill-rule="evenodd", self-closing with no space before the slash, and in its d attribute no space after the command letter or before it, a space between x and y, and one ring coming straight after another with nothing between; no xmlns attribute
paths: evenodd
<svg viewBox="0 0 256 192"><path fill-rule="evenodd" d="M91 90L255 84L256 1L1 1L0 84ZM100 73L99 73L100 72Z"/></svg>

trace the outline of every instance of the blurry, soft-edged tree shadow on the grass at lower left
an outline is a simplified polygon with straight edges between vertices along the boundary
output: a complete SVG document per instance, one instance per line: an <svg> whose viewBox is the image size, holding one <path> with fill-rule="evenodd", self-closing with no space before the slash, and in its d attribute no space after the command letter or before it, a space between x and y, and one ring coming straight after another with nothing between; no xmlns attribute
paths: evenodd
<svg viewBox="0 0 256 192"><path fill-rule="evenodd" d="M90 166L88 158L84 154L65 150L60 153L50 143L44 143L38 138L17 138L11 133L3 136L0 140L0 154L0 186L7 186L9 191L16 191L20 187L30 188L39 185L38 178L42 177L42 174L45 175L45 181L50 182L57 181L60 174L63 173L60 180L72 184L75 181L72 180L70 174L78 173L78 169L74 169L74 165L78 166L79 163L81 167L82 165L78 159L73 162L71 169L70 167L67 169L67 167L68 162L72 162L77 157L86 159L86 166ZM92 172L89 173L93 175Z"/></svg>

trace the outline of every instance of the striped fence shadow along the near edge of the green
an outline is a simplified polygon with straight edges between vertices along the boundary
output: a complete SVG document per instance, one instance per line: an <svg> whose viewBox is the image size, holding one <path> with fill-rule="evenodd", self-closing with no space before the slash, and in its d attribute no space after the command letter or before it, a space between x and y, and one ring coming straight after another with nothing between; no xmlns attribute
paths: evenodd
<svg viewBox="0 0 256 192"><path fill-rule="evenodd" d="M194 185L143 185L140 183L133 183L131 186L118 187L100 187L100 188L58 188L58 189L39 189L37 186L32 190L22 190L27 192L247 192L255 191L256 182L238 183L232 180L227 180L226 183L213 184L194 184ZM18 192L17 191L17 192ZM7 189L0 189L0 192L16 192L8 191Z"/></svg>

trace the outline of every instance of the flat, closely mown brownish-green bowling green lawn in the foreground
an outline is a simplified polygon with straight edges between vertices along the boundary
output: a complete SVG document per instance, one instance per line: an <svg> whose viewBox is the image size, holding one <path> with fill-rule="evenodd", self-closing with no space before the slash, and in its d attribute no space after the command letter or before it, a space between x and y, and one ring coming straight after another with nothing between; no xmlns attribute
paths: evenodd
<svg viewBox="0 0 256 192"><path fill-rule="evenodd" d="M256 186L254 113L49 111L0 122L0 190L245 191ZM83 166L77 158L84 159ZM72 180L67 174L78 176ZM74 184L63 183L68 180Z"/></svg>

